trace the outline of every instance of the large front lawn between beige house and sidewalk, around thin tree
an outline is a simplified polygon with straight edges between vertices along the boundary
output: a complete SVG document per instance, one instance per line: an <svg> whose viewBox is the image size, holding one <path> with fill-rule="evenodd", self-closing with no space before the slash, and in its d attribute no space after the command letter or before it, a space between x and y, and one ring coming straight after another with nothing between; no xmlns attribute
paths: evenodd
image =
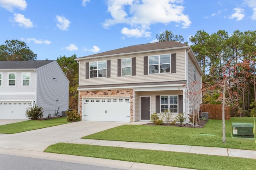
<svg viewBox="0 0 256 170"><path fill-rule="evenodd" d="M222 143L222 121L212 119L209 119L204 128L122 125L82 138L256 150L254 140L231 137L232 122L253 123L253 118L232 117L230 121L226 121L226 143Z"/></svg>

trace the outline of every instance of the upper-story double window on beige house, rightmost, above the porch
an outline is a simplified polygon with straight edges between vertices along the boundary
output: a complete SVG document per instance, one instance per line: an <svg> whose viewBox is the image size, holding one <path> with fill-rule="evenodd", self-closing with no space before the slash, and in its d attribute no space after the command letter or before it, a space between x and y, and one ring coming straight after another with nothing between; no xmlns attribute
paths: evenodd
<svg viewBox="0 0 256 170"><path fill-rule="evenodd" d="M156 55L148 57L149 74L170 72L170 55Z"/></svg>

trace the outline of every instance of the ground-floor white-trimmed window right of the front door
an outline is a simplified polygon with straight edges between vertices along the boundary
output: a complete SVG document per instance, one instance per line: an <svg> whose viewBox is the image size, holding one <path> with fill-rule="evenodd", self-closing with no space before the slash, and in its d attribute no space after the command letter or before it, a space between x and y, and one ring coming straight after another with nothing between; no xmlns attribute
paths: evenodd
<svg viewBox="0 0 256 170"><path fill-rule="evenodd" d="M171 113L178 113L178 96L161 96L161 112L170 110Z"/></svg>

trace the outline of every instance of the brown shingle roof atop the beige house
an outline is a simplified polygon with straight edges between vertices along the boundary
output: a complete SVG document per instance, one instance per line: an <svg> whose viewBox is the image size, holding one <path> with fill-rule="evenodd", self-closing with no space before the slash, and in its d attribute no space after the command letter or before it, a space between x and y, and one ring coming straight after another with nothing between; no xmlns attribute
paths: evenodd
<svg viewBox="0 0 256 170"><path fill-rule="evenodd" d="M75 60L80 60L80 59L84 59L84 58L88 58L88 57L101 57L101 56L103 57L103 56L108 56L108 55L118 55L118 54L125 54L125 53L136 53L136 52L143 52L143 51L170 49L170 48L175 48L175 47L189 48L188 45L178 43L176 41L163 41L163 42L157 42L157 43L132 45L129 47L124 47L124 48L106 51L106 52L102 52L102 53L98 53L98 54L79 57Z"/></svg>

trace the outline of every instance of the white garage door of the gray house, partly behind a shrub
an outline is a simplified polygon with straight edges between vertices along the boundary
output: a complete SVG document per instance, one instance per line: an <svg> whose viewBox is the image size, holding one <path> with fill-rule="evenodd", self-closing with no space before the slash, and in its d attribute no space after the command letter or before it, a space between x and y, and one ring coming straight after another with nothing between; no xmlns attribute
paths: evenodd
<svg viewBox="0 0 256 170"><path fill-rule="evenodd" d="M0 102L0 119L28 119L28 107L32 107L32 102Z"/></svg>

